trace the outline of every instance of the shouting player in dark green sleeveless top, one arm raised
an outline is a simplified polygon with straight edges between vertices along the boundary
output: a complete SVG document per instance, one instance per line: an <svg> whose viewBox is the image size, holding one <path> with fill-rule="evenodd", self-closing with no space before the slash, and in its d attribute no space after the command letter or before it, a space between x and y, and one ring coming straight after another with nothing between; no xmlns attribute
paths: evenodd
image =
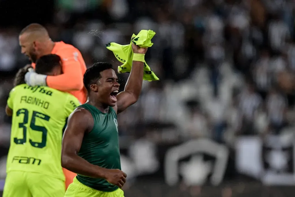
<svg viewBox="0 0 295 197"><path fill-rule="evenodd" d="M134 104L141 92L147 48L132 44L132 69L123 92L108 63L96 63L84 74L89 102L69 117L63 136L62 166L76 172L65 197L123 197L117 114Z"/></svg>

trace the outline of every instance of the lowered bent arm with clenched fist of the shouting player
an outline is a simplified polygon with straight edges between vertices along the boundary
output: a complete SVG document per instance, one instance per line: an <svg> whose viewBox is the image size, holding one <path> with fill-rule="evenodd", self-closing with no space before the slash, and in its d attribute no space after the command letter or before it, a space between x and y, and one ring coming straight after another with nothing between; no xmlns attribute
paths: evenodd
<svg viewBox="0 0 295 197"><path fill-rule="evenodd" d="M91 113L83 108L77 108L69 117L63 136L61 165L80 175L93 178L103 178L120 188L126 182L126 174L118 169L106 169L93 165L78 156L83 136L94 126Z"/></svg>

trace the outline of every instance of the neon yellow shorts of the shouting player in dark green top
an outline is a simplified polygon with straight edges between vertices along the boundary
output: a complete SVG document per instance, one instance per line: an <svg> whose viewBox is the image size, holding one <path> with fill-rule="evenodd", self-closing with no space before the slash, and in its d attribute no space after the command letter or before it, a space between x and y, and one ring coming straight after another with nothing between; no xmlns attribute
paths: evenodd
<svg viewBox="0 0 295 197"><path fill-rule="evenodd" d="M112 192L98 191L80 183L75 177L65 192L65 197L124 197L124 192L120 188Z"/></svg>

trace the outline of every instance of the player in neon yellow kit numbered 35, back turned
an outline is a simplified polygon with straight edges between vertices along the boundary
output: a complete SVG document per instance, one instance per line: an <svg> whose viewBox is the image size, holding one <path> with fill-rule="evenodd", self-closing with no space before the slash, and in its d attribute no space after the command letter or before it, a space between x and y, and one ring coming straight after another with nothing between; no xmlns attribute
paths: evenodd
<svg viewBox="0 0 295 197"><path fill-rule="evenodd" d="M62 197L65 176L61 167L61 141L65 123L80 105L73 95L46 86L29 86L22 68L7 100L12 115L4 197ZM61 74L60 57L46 55L36 62L36 73Z"/></svg>

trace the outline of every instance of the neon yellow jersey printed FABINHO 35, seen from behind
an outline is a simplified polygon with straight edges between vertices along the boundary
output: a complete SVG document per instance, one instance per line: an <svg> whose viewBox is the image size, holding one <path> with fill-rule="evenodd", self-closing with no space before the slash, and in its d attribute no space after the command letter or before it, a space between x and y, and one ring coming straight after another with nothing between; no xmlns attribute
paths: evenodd
<svg viewBox="0 0 295 197"><path fill-rule="evenodd" d="M63 129L81 105L78 99L50 87L21 84L10 91L7 105L13 111L7 173L37 172L64 180Z"/></svg>

